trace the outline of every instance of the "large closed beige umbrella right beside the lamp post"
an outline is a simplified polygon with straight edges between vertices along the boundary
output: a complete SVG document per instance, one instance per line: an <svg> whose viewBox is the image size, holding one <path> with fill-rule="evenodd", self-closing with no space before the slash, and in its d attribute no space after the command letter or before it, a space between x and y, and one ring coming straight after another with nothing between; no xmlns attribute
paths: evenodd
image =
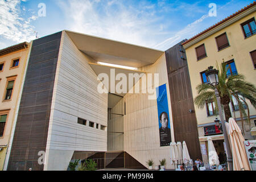
<svg viewBox="0 0 256 182"><path fill-rule="evenodd" d="M230 139L230 147L232 148L232 156L233 156L233 170L234 171L243 171L249 170L250 166L247 160L245 146L243 142L245 138L243 138L240 127L237 125L236 121L233 118L229 118L229 139Z"/></svg>

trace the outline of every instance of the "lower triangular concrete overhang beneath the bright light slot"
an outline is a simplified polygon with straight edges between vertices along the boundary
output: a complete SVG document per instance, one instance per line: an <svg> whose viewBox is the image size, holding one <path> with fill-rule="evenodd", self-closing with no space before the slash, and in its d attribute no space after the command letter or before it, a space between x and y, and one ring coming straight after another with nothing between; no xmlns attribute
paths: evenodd
<svg viewBox="0 0 256 182"><path fill-rule="evenodd" d="M133 84L129 86L129 73L131 74L138 74L138 76L143 76L143 73L141 71L137 70L131 70L131 69L125 69L125 68L117 68L117 67L111 67L108 65L101 65L101 64L96 64L96 63L89 63L90 67L92 67L93 71L96 73L97 76L99 76L101 73L105 73L108 75L108 85L105 85L105 87L108 89L109 96L108 96L108 107L112 108L114 107L117 102L119 102L123 96L125 96L126 93L129 92L129 90L136 84L135 80L133 80ZM111 73L114 75L111 75ZM115 77L119 74L123 73L126 76L126 90L125 93L117 93L116 90L115 92L111 92L111 85L117 86L118 82L122 80L115 80ZM104 83L104 81L102 81ZM112 83L113 82L113 83ZM138 82L138 81L137 81Z"/></svg>

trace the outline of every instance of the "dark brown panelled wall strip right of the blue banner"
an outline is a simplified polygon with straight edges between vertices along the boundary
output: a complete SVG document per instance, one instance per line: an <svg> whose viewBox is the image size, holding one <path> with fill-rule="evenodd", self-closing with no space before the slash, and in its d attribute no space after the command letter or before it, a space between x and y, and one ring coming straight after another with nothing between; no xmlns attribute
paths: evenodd
<svg viewBox="0 0 256 182"><path fill-rule="evenodd" d="M196 160L201 159L201 150L187 57L181 43L166 51L174 135L175 142L186 142L191 159Z"/></svg>

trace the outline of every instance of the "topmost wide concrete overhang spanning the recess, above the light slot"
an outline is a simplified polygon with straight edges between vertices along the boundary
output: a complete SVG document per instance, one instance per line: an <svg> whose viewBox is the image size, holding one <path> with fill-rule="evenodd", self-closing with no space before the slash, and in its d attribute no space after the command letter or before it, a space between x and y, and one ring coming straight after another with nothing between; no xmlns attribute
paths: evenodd
<svg viewBox="0 0 256 182"><path fill-rule="evenodd" d="M76 47L95 61L140 68L155 63L164 51L65 30Z"/></svg>

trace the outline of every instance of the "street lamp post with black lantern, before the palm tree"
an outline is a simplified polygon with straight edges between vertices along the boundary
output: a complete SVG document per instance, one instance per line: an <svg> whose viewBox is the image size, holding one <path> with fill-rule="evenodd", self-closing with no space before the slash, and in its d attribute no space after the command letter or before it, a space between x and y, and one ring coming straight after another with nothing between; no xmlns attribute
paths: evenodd
<svg viewBox="0 0 256 182"><path fill-rule="evenodd" d="M221 120L221 123L222 123L221 124L222 132L223 132L223 135L224 135L224 142L226 144L226 155L227 155L228 168L229 168L229 171L233 171L232 154L230 152L228 134L226 132L226 125L225 125L224 117L223 117L222 110L221 110L220 95L219 95L218 90L217 90L218 70L213 69L213 67L208 67L208 69L209 69L209 71L207 71L205 73L205 75L207 76L208 81L210 82L210 85L214 86L214 93L215 93L216 100L217 100L217 105L218 105L218 114L220 115L220 120Z"/></svg>

